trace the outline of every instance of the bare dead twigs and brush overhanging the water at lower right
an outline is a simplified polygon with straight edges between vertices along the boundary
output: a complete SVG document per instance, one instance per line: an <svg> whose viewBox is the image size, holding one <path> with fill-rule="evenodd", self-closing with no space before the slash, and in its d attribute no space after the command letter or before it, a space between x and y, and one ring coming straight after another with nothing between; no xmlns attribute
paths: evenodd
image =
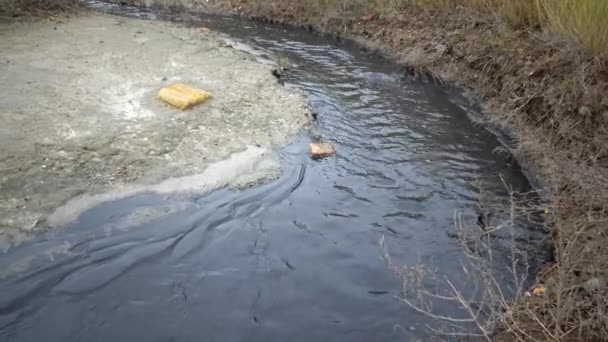
<svg viewBox="0 0 608 342"><path fill-rule="evenodd" d="M462 261L465 281L437 275L428 265L396 265L382 236L384 259L402 280L399 299L432 319L428 324L431 332L447 338L521 342L605 340L608 336L605 276L596 269L595 273L581 277L584 259L574 250L578 243L560 237L553 241L558 246L556 263L539 264L542 256L539 259L529 248L520 224L542 227L553 222L558 210L540 201L537 193L508 191L508 203L492 206L484 204L487 202L480 193L480 212L492 213L491 219L485 216L482 227L471 225L470 219L455 213L455 236L466 255ZM579 226L576 234L584 234L583 227ZM595 248L588 252L598 251ZM597 266L608 265L594 263L593 267ZM530 273L535 270L538 275ZM581 283L581 278L587 280ZM429 283L436 285L430 288ZM446 314L440 311L442 304L460 310Z"/></svg>

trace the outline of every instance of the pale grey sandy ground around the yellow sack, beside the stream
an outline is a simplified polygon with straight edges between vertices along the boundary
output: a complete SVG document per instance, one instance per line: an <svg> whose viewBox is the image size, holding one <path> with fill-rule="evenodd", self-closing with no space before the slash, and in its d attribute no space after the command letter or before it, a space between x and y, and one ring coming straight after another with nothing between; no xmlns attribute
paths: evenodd
<svg viewBox="0 0 608 342"><path fill-rule="evenodd" d="M260 171L259 158L310 115L270 69L213 32L170 23L98 14L0 23L0 233L46 227L77 196L200 174L248 146L237 156L249 164L214 184L271 175L277 164ZM214 97L170 108L156 93L176 81ZM171 184L187 188L163 191Z"/></svg>

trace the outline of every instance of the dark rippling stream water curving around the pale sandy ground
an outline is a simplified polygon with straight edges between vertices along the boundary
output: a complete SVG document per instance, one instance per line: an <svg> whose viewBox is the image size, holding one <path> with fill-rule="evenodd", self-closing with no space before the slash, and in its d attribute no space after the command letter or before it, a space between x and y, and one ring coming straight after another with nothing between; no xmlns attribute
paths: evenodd
<svg viewBox="0 0 608 342"><path fill-rule="evenodd" d="M395 263L432 265L468 286L454 213L478 229L473 183L504 202L500 176L529 190L521 171L494 153L498 141L471 122L457 92L405 77L354 45L230 18L188 22L260 58L288 57L285 82L308 94L314 128L280 152L276 181L104 203L2 255L0 340L425 340L429 319L395 298L401 282L379 237ZM337 155L309 160L315 138ZM181 209L124 229L133 211L166 208ZM542 237L517 229L519 241Z"/></svg>

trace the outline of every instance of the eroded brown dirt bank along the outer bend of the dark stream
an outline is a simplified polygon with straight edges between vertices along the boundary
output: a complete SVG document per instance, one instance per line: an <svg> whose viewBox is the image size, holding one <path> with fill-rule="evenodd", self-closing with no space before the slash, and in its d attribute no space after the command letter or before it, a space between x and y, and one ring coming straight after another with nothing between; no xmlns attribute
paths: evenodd
<svg viewBox="0 0 608 342"><path fill-rule="evenodd" d="M400 11L379 13L362 12L354 2L130 2L232 13L347 36L403 63L409 74L472 90L485 104L486 123L514 136L513 152L542 183L555 244L557 262L539 279L547 293L526 300L508 317L516 336L506 340L590 340L608 334L598 309L608 298L605 59L464 8L445 13L403 4ZM593 293L581 290L590 283L599 284Z"/></svg>

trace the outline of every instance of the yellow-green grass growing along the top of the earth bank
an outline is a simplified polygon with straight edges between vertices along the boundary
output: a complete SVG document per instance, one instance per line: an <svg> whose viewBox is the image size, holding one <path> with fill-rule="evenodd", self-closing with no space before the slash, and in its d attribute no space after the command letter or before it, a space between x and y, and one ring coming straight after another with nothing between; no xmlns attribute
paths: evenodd
<svg viewBox="0 0 608 342"><path fill-rule="evenodd" d="M250 6L273 6L271 1L249 2ZM608 1L604 0L309 0L300 6L319 15L361 16L371 11L393 15L411 4L449 10L467 6L493 13L511 25L550 30L594 56L608 53Z"/></svg>

